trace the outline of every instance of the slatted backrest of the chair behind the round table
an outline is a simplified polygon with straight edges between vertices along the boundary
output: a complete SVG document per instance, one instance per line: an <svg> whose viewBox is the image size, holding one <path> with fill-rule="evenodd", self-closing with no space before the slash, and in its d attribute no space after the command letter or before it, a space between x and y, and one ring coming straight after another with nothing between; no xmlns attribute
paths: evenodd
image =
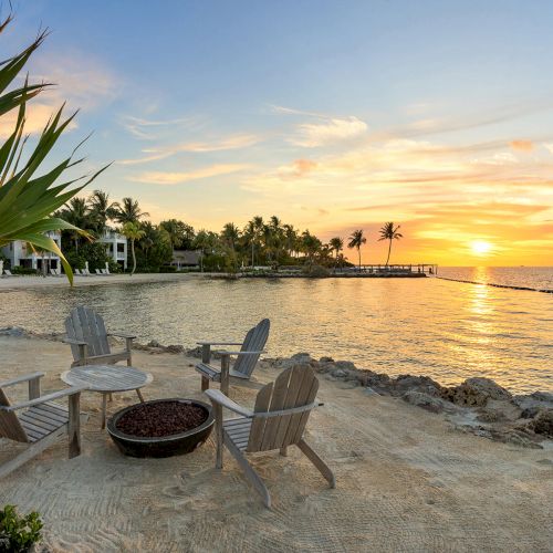
<svg viewBox="0 0 553 553"><path fill-rule="evenodd" d="M104 320L90 307L75 307L65 319L65 331L69 338L88 344L88 355L106 355L112 353L107 341ZM73 358L80 361L79 346L71 345Z"/></svg>

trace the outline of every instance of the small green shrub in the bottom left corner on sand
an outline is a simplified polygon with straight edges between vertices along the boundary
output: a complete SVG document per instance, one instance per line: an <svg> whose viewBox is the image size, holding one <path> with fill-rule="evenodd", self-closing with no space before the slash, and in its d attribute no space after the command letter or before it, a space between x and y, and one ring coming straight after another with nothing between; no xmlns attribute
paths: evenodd
<svg viewBox="0 0 553 553"><path fill-rule="evenodd" d="M28 551L41 540L42 525L38 512L19 515L14 505L6 505L0 511L0 551Z"/></svg>

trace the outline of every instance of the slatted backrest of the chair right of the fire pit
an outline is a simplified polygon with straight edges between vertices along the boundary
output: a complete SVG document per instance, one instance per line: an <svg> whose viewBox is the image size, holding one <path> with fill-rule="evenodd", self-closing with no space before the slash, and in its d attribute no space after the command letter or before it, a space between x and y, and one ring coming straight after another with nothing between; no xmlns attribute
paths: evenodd
<svg viewBox="0 0 553 553"><path fill-rule="evenodd" d="M263 386L255 398L254 413L271 413L303 407L315 400L319 380L309 365L296 365L283 371L274 380ZM310 410L255 417L251 424L247 451L280 449L302 439Z"/></svg>

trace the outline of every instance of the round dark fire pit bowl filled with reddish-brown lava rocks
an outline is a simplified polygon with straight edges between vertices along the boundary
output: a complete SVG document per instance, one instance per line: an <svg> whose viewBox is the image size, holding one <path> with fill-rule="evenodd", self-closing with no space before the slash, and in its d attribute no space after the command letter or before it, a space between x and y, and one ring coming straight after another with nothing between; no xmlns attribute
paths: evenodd
<svg viewBox="0 0 553 553"><path fill-rule="evenodd" d="M131 457L171 457L190 453L213 428L211 406L196 399L154 399L117 411L107 431Z"/></svg>

